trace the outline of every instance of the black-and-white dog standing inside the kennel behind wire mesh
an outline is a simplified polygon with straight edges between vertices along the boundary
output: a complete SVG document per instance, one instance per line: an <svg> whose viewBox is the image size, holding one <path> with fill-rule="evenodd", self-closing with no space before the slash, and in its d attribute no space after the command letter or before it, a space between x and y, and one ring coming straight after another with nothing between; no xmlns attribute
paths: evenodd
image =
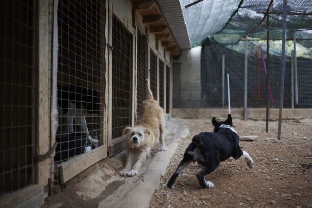
<svg viewBox="0 0 312 208"><path fill-rule="evenodd" d="M74 132L74 122L87 134L87 143L98 146L98 140L92 139L87 127L86 117L99 116L100 92L79 85L58 85L58 112L65 122L66 132ZM64 128L64 127L62 127Z"/></svg>

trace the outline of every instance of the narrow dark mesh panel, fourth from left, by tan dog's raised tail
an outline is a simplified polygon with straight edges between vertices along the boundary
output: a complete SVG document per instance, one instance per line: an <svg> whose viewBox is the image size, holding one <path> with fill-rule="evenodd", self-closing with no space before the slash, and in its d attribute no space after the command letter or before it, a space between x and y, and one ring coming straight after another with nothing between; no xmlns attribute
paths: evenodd
<svg viewBox="0 0 312 208"><path fill-rule="evenodd" d="M145 79L147 78L147 39L138 30L137 40L137 113L146 99Z"/></svg>

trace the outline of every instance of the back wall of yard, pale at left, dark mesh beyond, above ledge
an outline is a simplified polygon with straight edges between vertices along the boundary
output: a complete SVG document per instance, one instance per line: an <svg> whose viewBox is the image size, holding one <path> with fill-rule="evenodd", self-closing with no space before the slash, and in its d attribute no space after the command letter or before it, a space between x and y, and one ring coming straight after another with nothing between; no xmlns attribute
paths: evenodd
<svg viewBox="0 0 312 208"><path fill-rule="evenodd" d="M250 44L251 45L251 44ZM254 47L254 45L251 45ZM191 49L191 54L196 48ZM221 108L222 107L222 55L225 55L225 86L224 102L227 107L227 79L230 77L231 106L242 108L244 106L244 54L224 47L214 41L205 42L201 52L196 57L188 60L186 64L173 65L173 107L174 108ZM265 54L264 54L265 55ZM183 56L185 55L183 54ZM200 58L200 59L199 59ZM299 57L298 68L298 95L299 103L296 108L312 107L312 91L310 90L312 79L312 59ZM181 63L183 63L181 59ZM266 59L265 59L266 63ZM197 70L196 65L199 65ZM272 108L278 108L279 104L279 77L281 70L281 57L270 55L269 63L270 88L273 95ZM253 54L248 54L248 94L247 107L266 107L265 72L262 61L259 63L259 75L257 72L257 60ZM259 88L258 88L259 80ZM285 62L284 108L291 107L291 57ZM199 96L196 96L200 93Z"/></svg>

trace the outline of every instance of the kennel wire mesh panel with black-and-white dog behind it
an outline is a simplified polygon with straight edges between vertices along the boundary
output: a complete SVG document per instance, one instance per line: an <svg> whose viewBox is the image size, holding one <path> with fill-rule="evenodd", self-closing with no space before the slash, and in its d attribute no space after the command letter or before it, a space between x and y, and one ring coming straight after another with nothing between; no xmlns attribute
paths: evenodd
<svg viewBox="0 0 312 208"><path fill-rule="evenodd" d="M57 163L106 144L104 24L105 3L101 0L58 3Z"/></svg>

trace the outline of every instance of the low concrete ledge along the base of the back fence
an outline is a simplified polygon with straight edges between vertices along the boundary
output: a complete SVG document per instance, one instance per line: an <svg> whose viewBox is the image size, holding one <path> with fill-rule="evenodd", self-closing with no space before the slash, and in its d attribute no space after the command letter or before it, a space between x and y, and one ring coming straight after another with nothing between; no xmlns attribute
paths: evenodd
<svg viewBox="0 0 312 208"><path fill-rule="evenodd" d="M192 108L173 108L172 117L206 119L212 117L226 118L228 109L210 108L210 109L192 109ZM244 109L231 109L233 118L243 119ZM270 109L270 120L278 120L279 109ZM265 108L249 108L247 109L247 118L253 120L265 120ZM312 109L283 109L283 119L302 119L312 118Z"/></svg>

